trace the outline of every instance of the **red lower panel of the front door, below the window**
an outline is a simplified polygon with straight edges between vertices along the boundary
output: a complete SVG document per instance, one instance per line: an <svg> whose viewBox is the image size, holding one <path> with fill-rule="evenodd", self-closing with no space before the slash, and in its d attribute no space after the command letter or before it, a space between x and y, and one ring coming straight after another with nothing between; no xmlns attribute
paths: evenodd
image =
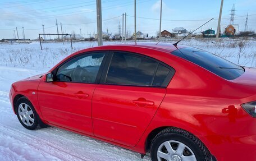
<svg viewBox="0 0 256 161"><path fill-rule="evenodd" d="M41 82L38 103L43 119L92 135L92 97L96 86L74 82Z"/></svg>

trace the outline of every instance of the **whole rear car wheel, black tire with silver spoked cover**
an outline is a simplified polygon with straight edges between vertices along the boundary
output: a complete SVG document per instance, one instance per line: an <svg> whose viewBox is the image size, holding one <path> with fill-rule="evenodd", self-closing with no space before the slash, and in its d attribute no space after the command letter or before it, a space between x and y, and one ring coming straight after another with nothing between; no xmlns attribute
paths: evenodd
<svg viewBox="0 0 256 161"><path fill-rule="evenodd" d="M152 161L212 161L212 155L197 137L180 128L166 128L152 140Z"/></svg>

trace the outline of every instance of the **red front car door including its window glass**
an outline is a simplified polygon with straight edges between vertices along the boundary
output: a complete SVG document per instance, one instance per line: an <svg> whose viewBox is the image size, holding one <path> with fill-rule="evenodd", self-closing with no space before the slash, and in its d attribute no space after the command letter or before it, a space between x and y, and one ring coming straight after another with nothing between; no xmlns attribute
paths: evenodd
<svg viewBox="0 0 256 161"><path fill-rule="evenodd" d="M54 70L53 82L41 82L38 102L49 123L93 135L92 97L106 52L79 54Z"/></svg>

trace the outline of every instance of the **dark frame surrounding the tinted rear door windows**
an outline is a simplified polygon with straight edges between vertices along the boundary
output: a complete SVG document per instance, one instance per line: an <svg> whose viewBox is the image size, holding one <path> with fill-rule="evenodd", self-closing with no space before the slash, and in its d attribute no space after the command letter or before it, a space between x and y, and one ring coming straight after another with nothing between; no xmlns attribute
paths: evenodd
<svg viewBox="0 0 256 161"><path fill-rule="evenodd" d="M156 68L156 71L154 71L154 76L153 76L151 85L150 86L139 86L139 85L107 84L106 83L106 79L107 79L107 75L108 75L108 70L109 70L110 63L112 61L112 58L113 58L113 55L114 55L115 52L124 53L124 54L133 54L135 56L144 57L144 58L147 58L147 59L150 59L152 61L157 62L158 63L157 64L157 68ZM157 69L158 69L159 65L167 67L170 70L170 72L168 73L168 75L166 77L166 80L164 80L163 86L153 86L153 82L154 82L154 79L156 77L156 73L157 73ZM154 59L152 57L144 56L143 54L134 53L134 52L126 52L126 51L122 51L122 50L109 50L107 58L106 58L106 63L105 63L105 66L104 66L104 70L103 70L102 76L100 77L99 84L103 84L103 85L118 85L118 86L152 87L152 88L167 88L168 84L171 82L172 77L174 75L175 75L175 69L173 67L167 65L166 63L159 61L158 59Z"/></svg>

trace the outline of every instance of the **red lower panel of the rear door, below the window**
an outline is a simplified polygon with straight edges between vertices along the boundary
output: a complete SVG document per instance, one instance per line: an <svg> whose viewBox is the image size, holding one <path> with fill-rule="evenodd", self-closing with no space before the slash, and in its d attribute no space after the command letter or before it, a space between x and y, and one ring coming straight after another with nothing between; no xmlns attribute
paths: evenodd
<svg viewBox="0 0 256 161"><path fill-rule="evenodd" d="M164 88L98 85L92 104L94 135L135 146L165 94ZM147 100L152 105L135 104L134 100Z"/></svg>

